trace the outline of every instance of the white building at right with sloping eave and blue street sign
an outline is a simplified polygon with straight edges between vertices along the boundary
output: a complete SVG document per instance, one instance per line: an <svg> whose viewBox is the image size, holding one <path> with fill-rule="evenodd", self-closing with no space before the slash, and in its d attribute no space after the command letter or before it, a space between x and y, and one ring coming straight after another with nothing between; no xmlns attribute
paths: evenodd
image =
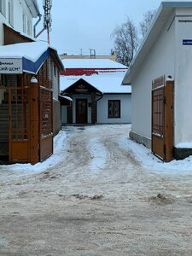
<svg viewBox="0 0 192 256"><path fill-rule="evenodd" d="M157 148L166 154L169 147L172 157L177 159L192 152L191 70L192 2L163 2L125 74L123 84L132 85L131 137L152 148L164 160L166 158ZM161 76L172 76L174 80L170 106L165 96L166 87L171 85L168 82L169 86L166 86L163 79L157 80ZM155 99L154 90L160 92L160 88L161 99L160 95ZM166 119L166 108L172 110L169 119ZM167 124L169 120L171 123ZM157 127L162 130L158 131ZM165 139L170 139L167 145Z"/></svg>

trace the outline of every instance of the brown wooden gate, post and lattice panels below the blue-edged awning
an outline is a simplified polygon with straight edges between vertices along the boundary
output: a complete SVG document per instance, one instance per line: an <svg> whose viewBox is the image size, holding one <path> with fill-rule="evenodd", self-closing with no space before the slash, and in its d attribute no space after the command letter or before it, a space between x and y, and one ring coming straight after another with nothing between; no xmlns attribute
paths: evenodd
<svg viewBox="0 0 192 256"><path fill-rule="evenodd" d="M53 153L52 90L31 79L0 84L0 160L36 164Z"/></svg>

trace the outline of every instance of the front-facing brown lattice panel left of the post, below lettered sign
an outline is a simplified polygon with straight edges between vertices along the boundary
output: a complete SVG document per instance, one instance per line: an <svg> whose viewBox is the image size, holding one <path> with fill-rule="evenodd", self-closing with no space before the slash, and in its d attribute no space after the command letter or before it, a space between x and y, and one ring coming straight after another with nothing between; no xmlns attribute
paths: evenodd
<svg viewBox="0 0 192 256"><path fill-rule="evenodd" d="M9 75L0 86L0 158L29 161L29 86L22 77Z"/></svg>

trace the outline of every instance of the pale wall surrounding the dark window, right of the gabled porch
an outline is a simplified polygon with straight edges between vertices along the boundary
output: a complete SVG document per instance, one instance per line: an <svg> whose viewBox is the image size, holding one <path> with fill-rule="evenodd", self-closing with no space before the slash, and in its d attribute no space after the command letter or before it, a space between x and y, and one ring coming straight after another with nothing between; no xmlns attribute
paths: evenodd
<svg viewBox="0 0 192 256"><path fill-rule="evenodd" d="M120 118L108 118L108 100L120 101ZM97 124L131 123L131 94L104 95L97 102Z"/></svg>

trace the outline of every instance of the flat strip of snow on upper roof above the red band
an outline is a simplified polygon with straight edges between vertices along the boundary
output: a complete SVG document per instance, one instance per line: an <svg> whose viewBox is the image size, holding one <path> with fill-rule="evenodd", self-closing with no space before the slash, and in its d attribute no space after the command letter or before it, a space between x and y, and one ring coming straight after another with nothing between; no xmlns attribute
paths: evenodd
<svg viewBox="0 0 192 256"><path fill-rule="evenodd" d="M67 59L62 60L62 63L65 68L127 68L123 64L106 59Z"/></svg>

